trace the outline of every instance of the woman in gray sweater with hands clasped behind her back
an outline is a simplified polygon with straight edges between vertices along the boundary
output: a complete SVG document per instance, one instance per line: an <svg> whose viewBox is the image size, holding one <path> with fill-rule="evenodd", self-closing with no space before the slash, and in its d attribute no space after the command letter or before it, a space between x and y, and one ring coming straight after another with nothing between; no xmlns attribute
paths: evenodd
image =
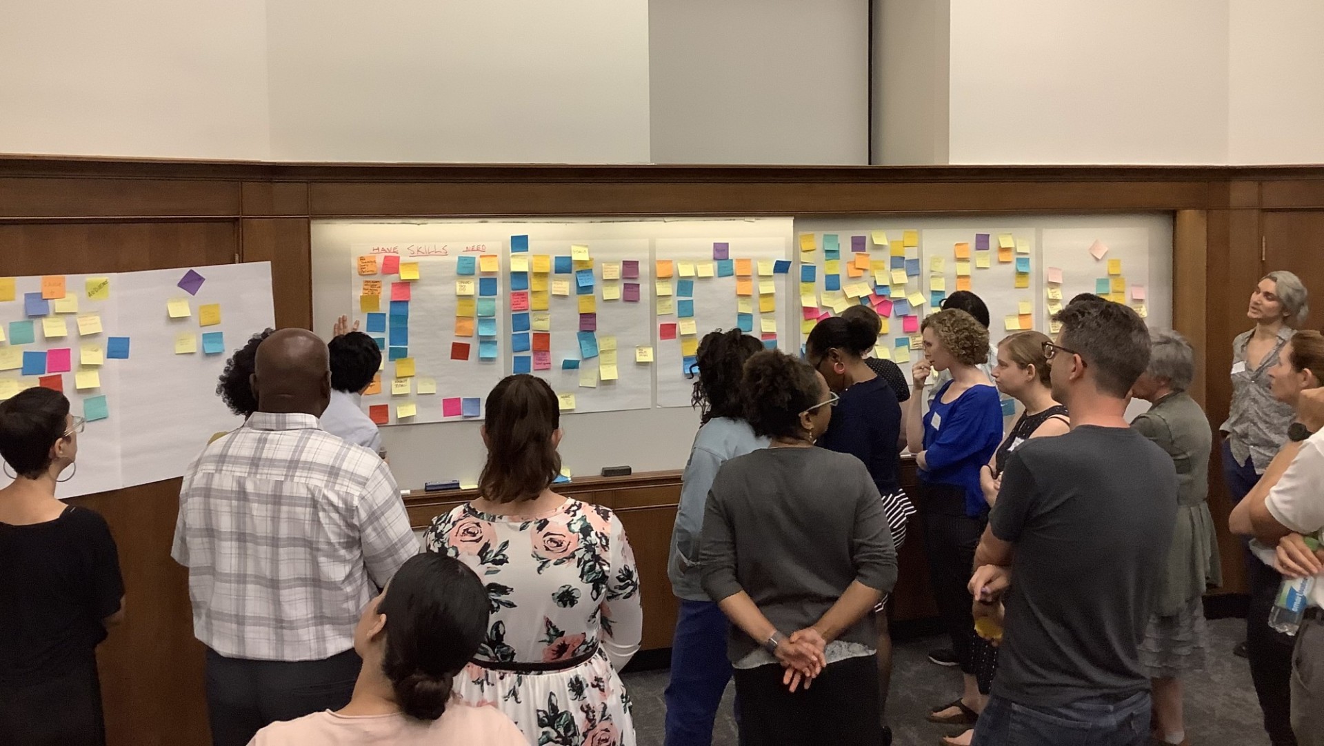
<svg viewBox="0 0 1324 746"><path fill-rule="evenodd" d="M813 368L760 352L744 392L771 446L718 471L699 550L703 589L732 622L741 742L875 746L870 610L896 582L882 499L859 459L813 447L837 401Z"/></svg>

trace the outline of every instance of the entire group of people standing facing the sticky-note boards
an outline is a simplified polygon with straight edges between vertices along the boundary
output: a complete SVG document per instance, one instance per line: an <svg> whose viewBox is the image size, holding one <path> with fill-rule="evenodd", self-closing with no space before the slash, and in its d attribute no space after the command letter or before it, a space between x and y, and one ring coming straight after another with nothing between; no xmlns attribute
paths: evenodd
<svg viewBox="0 0 1324 746"><path fill-rule="evenodd" d="M1324 569L1301 538L1324 526L1309 489L1324 337L1294 331L1305 292L1290 272L1259 283L1250 315L1223 425L1246 496L1233 529L1258 537L1247 648L1274 743L1315 743L1324 683L1300 657L1292 676L1268 608L1284 575ZM887 595L916 512L951 643L933 657L964 675L929 714L961 729L944 743L1186 742L1180 677L1204 665L1201 597L1221 582L1192 348L1092 295L1055 316L1055 339L990 345L988 321L973 294L949 296L908 377L869 356L880 323L865 306L817 324L800 357L703 337L667 566L669 746L711 743L732 679L743 743L890 742ZM527 374L493 389L479 496L420 548L357 399L381 353L343 319L335 331L269 329L238 351L217 393L244 423L183 480L171 554L207 647L213 743L636 743L618 671L639 647L638 571L612 511L551 489L555 392ZM1152 406L1128 423L1132 398ZM48 389L0 403L15 472L0 734L17 743L103 742L93 653L124 587L105 521L54 496L82 425ZM1298 638L1324 656L1313 615Z"/></svg>

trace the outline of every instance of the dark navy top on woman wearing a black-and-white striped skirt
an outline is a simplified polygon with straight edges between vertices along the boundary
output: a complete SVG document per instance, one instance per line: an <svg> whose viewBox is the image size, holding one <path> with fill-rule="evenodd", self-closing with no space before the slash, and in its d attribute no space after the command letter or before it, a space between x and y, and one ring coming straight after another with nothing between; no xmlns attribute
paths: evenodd
<svg viewBox="0 0 1324 746"><path fill-rule="evenodd" d="M865 462L879 495L891 495L900 488L896 479L900 435L902 405L878 376L841 393L818 444Z"/></svg>

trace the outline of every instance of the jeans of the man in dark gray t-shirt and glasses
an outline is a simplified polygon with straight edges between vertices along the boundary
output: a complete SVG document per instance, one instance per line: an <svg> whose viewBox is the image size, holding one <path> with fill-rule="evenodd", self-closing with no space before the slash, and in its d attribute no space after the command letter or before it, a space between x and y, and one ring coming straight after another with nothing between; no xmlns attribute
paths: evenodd
<svg viewBox="0 0 1324 746"><path fill-rule="evenodd" d="M972 746L1145 746L1149 692L1116 702L1084 700L1057 708L989 698Z"/></svg>

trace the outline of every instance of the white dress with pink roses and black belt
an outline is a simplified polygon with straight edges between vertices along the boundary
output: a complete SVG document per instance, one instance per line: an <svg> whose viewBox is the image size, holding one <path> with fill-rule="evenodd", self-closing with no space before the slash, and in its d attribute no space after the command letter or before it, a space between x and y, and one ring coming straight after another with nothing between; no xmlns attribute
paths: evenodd
<svg viewBox="0 0 1324 746"><path fill-rule="evenodd" d="M538 746L636 743L617 669L639 647L643 610L634 553L612 511L567 500L539 516L493 516L465 504L432 521L424 546L487 585L491 619L475 660L545 664L597 645L589 660L552 672L470 663L455 677L466 702L500 709Z"/></svg>

